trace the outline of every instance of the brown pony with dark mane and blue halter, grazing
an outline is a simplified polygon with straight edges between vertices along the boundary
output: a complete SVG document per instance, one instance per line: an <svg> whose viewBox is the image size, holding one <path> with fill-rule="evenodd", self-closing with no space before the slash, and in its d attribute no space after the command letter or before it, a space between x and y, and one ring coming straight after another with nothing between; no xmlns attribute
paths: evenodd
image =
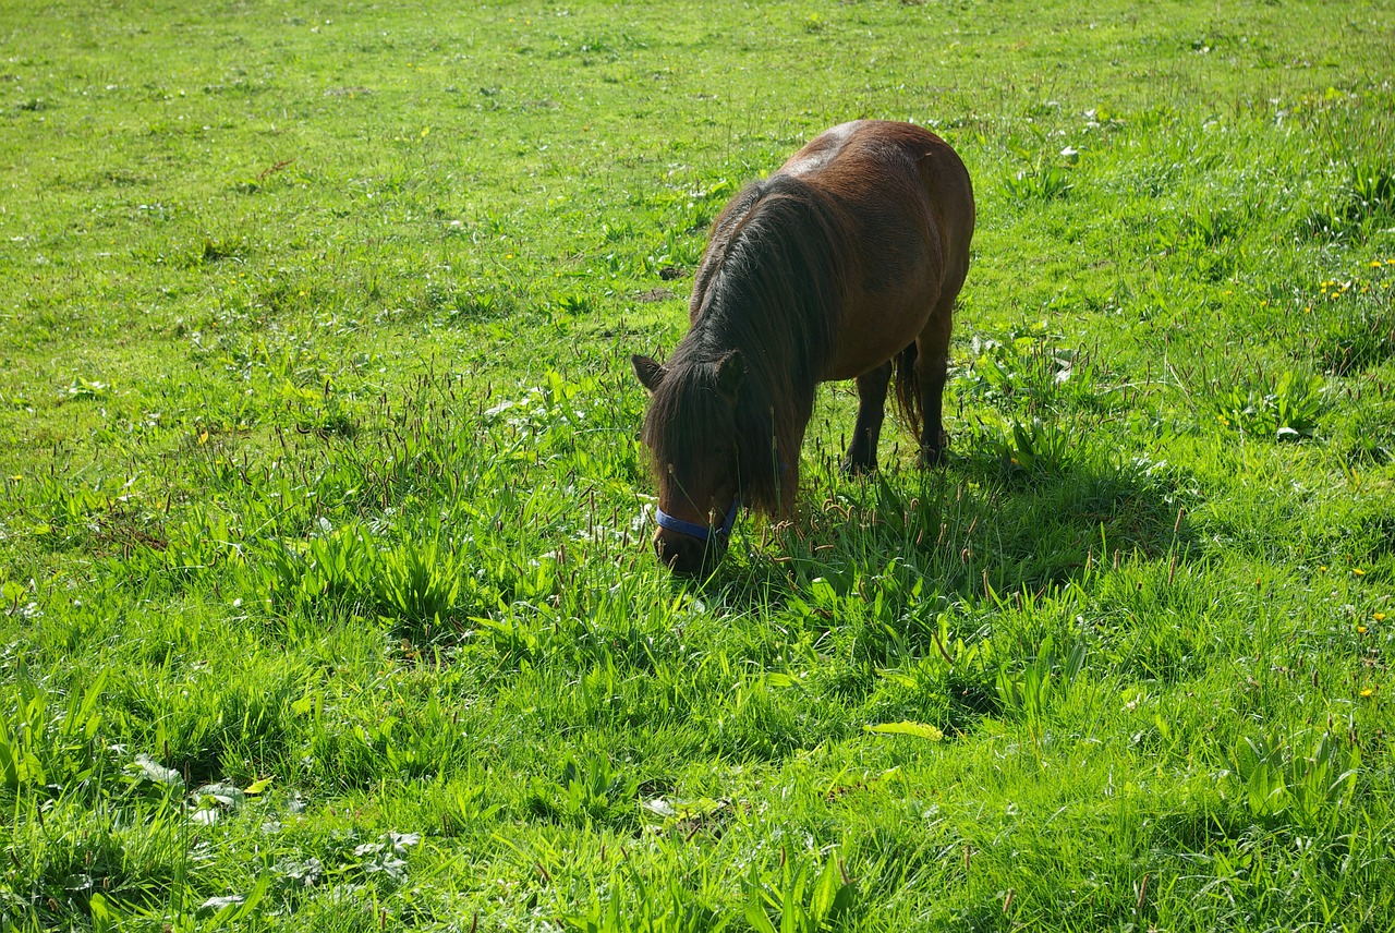
<svg viewBox="0 0 1395 933"><path fill-rule="evenodd" d="M972 234L964 163L904 123L834 127L727 205L698 269L688 335L663 365L633 357L651 396L643 439L658 477L660 562L710 569L742 503L792 515L819 382L857 379L845 470L876 469L893 363L921 463L939 462L950 319Z"/></svg>

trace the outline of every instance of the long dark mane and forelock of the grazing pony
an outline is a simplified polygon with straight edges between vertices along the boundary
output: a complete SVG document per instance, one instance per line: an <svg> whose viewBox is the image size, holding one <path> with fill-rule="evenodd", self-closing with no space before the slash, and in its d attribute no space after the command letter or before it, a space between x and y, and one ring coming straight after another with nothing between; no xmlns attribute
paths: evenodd
<svg viewBox="0 0 1395 933"><path fill-rule="evenodd" d="M660 484L702 470L704 420L717 364L745 363L735 404L742 499L774 513L783 464L799 456L801 428L831 353L845 293L838 257L851 255L837 204L798 177L746 185L713 225L693 286L692 329L674 349L644 423ZM671 466L670 466L671 464ZM707 477L689 473L699 488Z"/></svg>

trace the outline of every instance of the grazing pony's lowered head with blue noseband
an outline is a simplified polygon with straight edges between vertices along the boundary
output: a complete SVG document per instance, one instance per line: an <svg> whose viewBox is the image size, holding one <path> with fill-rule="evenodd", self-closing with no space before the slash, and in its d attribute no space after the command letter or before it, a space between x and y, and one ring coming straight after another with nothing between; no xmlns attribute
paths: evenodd
<svg viewBox="0 0 1395 933"><path fill-rule="evenodd" d="M644 445L658 480L658 562L677 573L704 573L721 559L741 508L744 443L741 354L675 358L660 365L632 357L649 389Z"/></svg>

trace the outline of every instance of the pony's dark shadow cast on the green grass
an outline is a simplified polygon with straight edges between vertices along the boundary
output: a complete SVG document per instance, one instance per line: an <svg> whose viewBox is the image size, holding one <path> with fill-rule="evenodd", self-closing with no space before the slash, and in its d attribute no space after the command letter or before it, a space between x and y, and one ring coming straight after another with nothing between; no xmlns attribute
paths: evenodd
<svg viewBox="0 0 1395 933"><path fill-rule="evenodd" d="M1122 562L1175 570L1200 551L1187 519L1196 484L1166 464L1027 470L970 452L935 470L865 477L810 466L798 519L748 519L704 591L756 608L817 577L845 591L898 563L926 593L976 600L1046 591Z"/></svg>

